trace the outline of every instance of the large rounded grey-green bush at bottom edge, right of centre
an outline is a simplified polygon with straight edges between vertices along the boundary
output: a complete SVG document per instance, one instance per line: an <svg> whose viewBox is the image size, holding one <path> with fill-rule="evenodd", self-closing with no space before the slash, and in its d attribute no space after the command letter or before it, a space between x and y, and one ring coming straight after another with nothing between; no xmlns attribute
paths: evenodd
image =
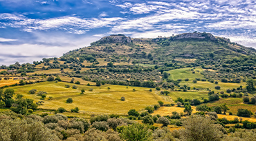
<svg viewBox="0 0 256 141"><path fill-rule="evenodd" d="M219 124L214 124L210 118L203 116L190 116L182 122L184 129L181 136L184 140L219 141L223 137L223 129Z"/></svg>

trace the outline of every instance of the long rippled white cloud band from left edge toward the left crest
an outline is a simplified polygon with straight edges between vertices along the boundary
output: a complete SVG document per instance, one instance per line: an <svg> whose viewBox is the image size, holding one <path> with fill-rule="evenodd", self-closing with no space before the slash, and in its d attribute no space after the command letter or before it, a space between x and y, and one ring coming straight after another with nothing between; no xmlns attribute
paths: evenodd
<svg viewBox="0 0 256 141"><path fill-rule="evenodd" d="M26 32L33 30L67 30L74 34L84 34L92 28L108 27L116 25L122 18L91 18L81 19L80 17L57 17L53 19L27 19L24 16L15 14L0 14L0 19L14 19L15 21L2 23L4 27L22 28Z"/></svg>

